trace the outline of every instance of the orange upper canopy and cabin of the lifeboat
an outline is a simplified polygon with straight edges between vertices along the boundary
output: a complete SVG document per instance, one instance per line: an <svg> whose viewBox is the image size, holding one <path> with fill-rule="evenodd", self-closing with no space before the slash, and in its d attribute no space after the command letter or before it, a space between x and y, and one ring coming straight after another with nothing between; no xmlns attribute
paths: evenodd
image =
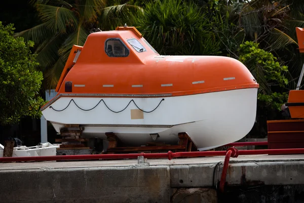
<svg viewBox="0 0 304 203"><path fill-rule="evenodd" d="M56 91L60 96L164 97L244 88L258 84L236 59L163 56L135 27L117 27L91 33L83 47L72 47Z"/></svg>

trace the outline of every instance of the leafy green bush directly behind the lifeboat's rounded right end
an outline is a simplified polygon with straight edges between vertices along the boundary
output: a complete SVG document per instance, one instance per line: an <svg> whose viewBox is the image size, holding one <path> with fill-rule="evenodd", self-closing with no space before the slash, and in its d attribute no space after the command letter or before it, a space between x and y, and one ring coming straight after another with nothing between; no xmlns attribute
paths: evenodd
<svg viewBox="0 0 304 203"><path fill-rule="evenodd" d="M277 86L284 88L288 85L288 80L284 76L288 72L288 67L281 65L272 53L260 49L258 45L248 41L241 44L239 60L248 67L260 84L258 99L280 110L288 98L288 93L276 92L274 89L278 89Z"/></svg>

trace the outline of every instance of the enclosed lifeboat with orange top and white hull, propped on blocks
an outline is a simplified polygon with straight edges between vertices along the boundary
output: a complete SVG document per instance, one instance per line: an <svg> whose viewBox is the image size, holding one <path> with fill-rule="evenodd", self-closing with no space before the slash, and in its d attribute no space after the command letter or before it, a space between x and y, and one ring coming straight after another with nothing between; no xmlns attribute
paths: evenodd
<svg viewBox="0 0 304 203"><path fill-rule="evenodd" d="M240 61L222 56L163 56L135 27L91 33L73 46L58 94L42 113L57 132L79 124L83 136L124 143L177 144L187 132L199 150L245 137L256 116L258 84Z"/></svg>

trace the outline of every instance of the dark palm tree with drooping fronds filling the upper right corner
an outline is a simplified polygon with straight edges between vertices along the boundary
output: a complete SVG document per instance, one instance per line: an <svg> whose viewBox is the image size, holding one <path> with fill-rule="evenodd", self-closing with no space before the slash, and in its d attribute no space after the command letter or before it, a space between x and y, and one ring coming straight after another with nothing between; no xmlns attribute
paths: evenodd
<svg viewBox="0 0 304 203"><path fill-rule="evenodd" d="M298 45L295 34L295 27L304 26L304 3L292 0L252 0L232 2L225 5L224 11L229 12L229 21L240 28L231 32L242 35L243 41L258 42L262 49L272 52L280 62L288 65L289 75L286 77L290 80L289 88L294 89L304 63L304 58L296 50Z"/></svg>

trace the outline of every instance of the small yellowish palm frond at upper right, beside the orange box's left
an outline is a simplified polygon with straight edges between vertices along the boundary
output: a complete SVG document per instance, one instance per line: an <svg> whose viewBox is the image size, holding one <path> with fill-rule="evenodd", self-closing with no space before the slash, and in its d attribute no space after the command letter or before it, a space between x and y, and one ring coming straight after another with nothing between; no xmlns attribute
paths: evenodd
<svg viewBox="0 0 304 203"><path fill-rule="evenodd" d="M277 28L272 30L270 43L273 50L284 49L289 44L297 45L296 41Z"/></svg>

